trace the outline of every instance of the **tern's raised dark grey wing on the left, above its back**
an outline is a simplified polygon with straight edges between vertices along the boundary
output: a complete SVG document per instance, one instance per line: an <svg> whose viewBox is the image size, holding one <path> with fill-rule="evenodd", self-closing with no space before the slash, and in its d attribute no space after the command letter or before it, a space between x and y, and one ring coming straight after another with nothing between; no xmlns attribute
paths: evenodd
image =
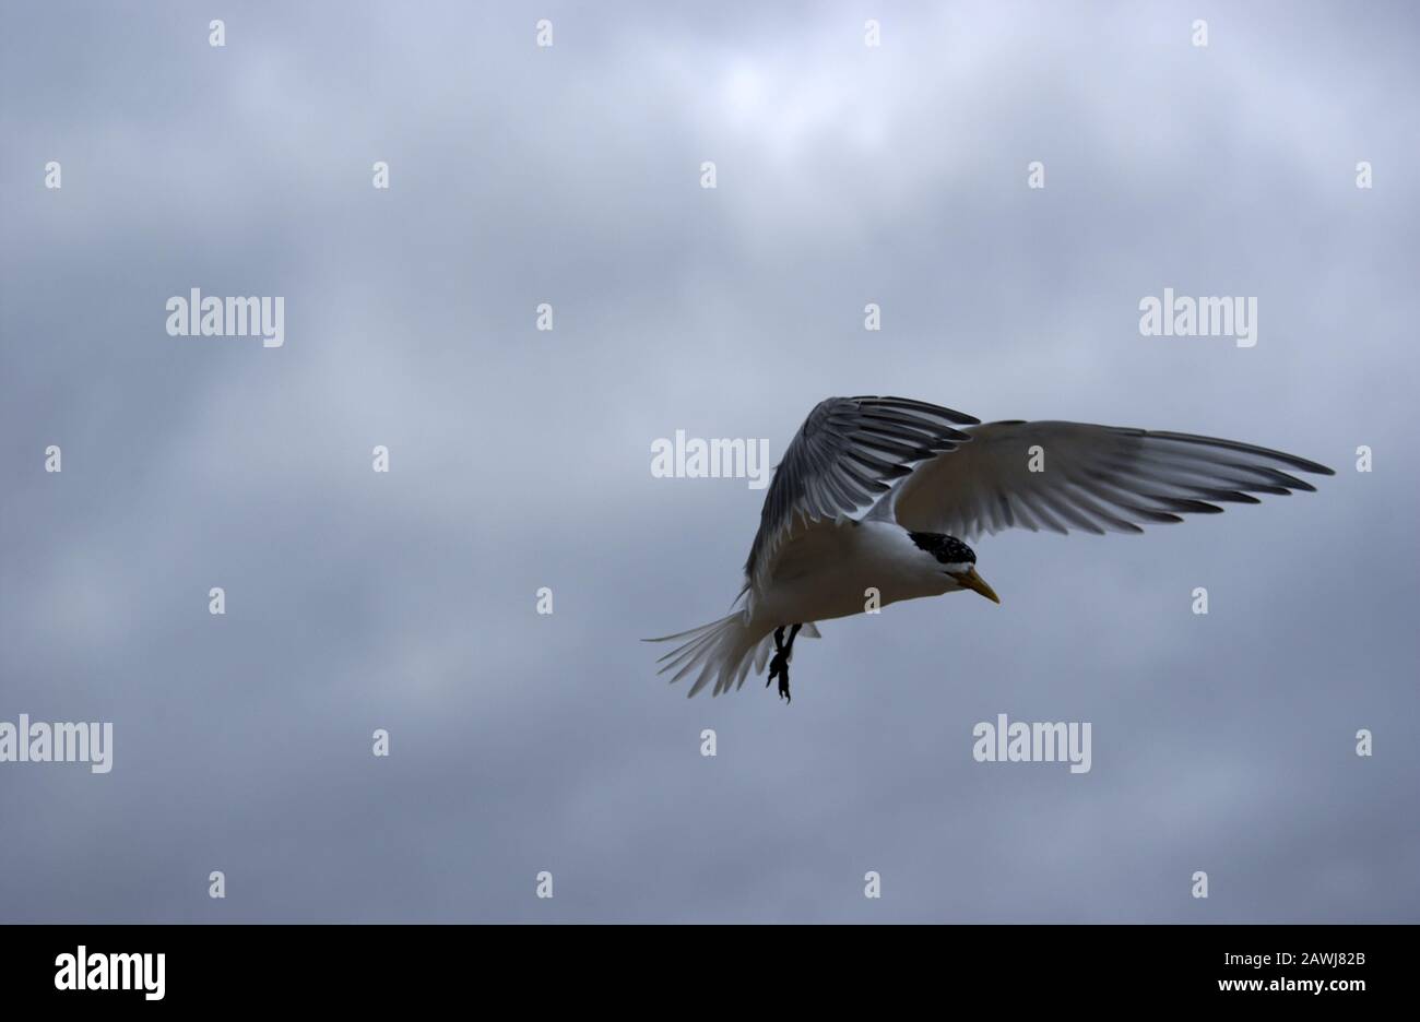
<svg viewBox="0 0 1420 1022"><path fill-rule="evenodd" d="M819 402L784 451L760 511L760 531L744 565L763 589L775 552L808 521L852 515L890 490L924 458L954 450L978 423L951 409L906 397L829 397Z"/></svg>

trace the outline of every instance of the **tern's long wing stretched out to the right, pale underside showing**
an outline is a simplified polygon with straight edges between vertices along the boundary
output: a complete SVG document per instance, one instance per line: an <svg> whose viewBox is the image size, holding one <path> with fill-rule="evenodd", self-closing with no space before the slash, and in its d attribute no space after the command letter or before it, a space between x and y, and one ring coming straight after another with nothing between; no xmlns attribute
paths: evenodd
<svg viewBox="0 0 1420 1022"><path fill-rule="evenodd" d="M1326 466L1235 440L1066 422L998 422L919 466L893 493L903 528L970 539L1032 532L1142 532L1140 524L1315 490L1291 471ZM1037 450L1038 449L1038 450ZM1038 471L1032 471L1038 468Z"/></svg>

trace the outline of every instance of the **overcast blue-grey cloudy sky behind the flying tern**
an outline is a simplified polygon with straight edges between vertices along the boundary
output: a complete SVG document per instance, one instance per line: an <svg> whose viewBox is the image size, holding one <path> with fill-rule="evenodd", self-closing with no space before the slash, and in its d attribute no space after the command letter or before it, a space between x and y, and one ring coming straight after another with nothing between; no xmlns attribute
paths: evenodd
<svg viewBox="0 0 1420 1022"><path fill-rule="evenodd" d="M682 7L4 6L0 721L114 768L0 764L0 920L1417 918L1416 13ZM1257 346L1140 336L1166 287ZM170 336L190 288L284 346ZM835 393L1338 474L983 539L1001 606L686 700L638 639L726 613L763 493L650 444ZM1000 713L1092 771L974 762Z"/></svg>

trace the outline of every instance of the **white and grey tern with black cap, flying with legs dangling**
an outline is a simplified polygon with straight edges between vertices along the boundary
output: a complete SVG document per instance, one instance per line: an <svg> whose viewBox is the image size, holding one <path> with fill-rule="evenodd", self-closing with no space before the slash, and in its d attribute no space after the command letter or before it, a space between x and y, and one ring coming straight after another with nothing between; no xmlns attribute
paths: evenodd
<svg viewBox="0 0 1420 1022"><path fill-rule="evenodd" d="M1254 494L1315 491L1291 471L1335 474L1235 440L981 424L906 397L829 397L774 473L733 613L648 642L682 640L660 673L693 677L689 696L710 683L716 696L738 688L768 661L765 687L778 680L788 700L794 639L818 637L815 622L967 589L1000 603L967 539L1010 528L1143 532L1218 504L1257 504Z"/></svg>

